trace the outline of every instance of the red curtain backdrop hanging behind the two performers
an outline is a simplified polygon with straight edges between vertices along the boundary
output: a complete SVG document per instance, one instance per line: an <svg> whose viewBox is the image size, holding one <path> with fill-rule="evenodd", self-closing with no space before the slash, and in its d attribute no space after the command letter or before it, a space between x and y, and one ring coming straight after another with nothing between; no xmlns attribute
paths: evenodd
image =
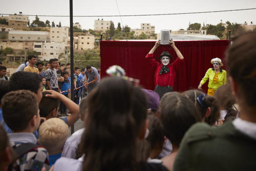
<svg viewBox="0 0 256 171"><path fill-rule="evenodd" d="M105 71L110 66L118 65L125 70L126 76L138 78L145 89L154 90L155 71L145 60L154 45L155 41L100 41L101 77L107 76ZM175 45L184 56L184 62L177 71L174 91L196 89L207 69L212 68L212 58L221 58L225 69L224 56L229 40L175 41ZM154 53L156 60L162 51L173 56L170 62L177 58L170 45L160 45ZM205 92L207 84L208 81L203 85Z"/></svg>

